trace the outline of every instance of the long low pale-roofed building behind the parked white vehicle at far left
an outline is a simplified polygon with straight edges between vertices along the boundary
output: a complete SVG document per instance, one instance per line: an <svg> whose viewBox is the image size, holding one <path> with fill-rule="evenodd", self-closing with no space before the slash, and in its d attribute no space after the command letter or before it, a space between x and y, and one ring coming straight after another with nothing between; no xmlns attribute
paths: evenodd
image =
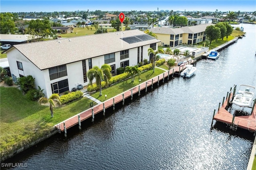
<svg viewBox="0 0 256 170"><path fill-rule="evenodd" d="M40 36L30 34L0 34L0 43L1 45L15 45L38 41L40 38Z"/></svg>

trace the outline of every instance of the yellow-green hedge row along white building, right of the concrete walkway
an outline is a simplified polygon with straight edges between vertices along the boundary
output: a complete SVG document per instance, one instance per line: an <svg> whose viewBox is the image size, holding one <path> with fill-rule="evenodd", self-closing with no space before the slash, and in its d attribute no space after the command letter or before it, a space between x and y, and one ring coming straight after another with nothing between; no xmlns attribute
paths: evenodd
<svg viewBox="0 0 256 170"><path fill-rule="evenodd" d="M160 65L160 64L163 64L163 63L165 63L165 59L161 59L161 60L156 61L156 65ZM143 66L139 67L139 69L140 69L141 72L143 72L145 70L149 70L152 67L153 66L150 63L150 64L146 64L146 65L143 65ZM125 80L128 77L129 77L129 75L128 75L127 72L124 72L122 74L118 74L118 75L110 78L108 84L114 84L116 82L120 82L122 80ZM102 81L101 86L102 86L102 88L106 87L106 83L104 81ZM100 87L98 87L96 84L88 85L88 87L87 87L88 92L93 92L94 90L99 90L99 89L100 89Z"/></svg>

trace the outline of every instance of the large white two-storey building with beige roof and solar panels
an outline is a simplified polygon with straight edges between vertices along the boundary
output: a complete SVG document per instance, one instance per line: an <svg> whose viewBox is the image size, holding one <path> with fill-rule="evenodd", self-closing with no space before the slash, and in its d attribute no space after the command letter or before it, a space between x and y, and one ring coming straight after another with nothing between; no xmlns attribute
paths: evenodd
<svg viewBox="0 0 256 170"><path fill-rule="evenodd" d="M88 85L93 66L116 68L150 60L148 48L158 49L158 39L140 30L118 31L14 45L7 53L13 80L32 75L47 97Z"/></svg>

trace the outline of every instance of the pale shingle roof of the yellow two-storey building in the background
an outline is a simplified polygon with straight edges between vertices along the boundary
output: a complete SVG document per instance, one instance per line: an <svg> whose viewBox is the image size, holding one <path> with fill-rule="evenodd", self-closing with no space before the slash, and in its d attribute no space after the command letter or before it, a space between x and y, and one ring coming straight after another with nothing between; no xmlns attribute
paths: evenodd
<svg viewBox="0 0 256 170"><path fill-rule="evenodd" d="M186 26L186 27L180 27L180 28L172 28L172 27L154 27L152 29L149 29L149 31L152 31L152 33L158 33L158 34L168 34L168 35L178 35L181 33L200 33L205 31L206 27L209 25L214 25L211 23L206 24L200 24L195 26Z"/></svg>

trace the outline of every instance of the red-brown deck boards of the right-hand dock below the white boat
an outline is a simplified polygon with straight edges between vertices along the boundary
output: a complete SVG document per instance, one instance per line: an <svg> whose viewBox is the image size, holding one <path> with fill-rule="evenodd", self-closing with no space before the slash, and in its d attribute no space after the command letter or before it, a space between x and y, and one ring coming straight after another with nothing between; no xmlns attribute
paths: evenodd
<svg viewBox="0 0 256 170"><path fill-rule="evenodd" d="M230 94L232 96L232 94ZM219 111L214 115L213 119L220 121L222 123L227 123L232 125L233 115L229 113L225 108L227 106L228 100L224 102ZM256 105L254 106L253 112L248 116L235 116L234 124L242 129L247 129L249 131L256 131Z"/></svg>

